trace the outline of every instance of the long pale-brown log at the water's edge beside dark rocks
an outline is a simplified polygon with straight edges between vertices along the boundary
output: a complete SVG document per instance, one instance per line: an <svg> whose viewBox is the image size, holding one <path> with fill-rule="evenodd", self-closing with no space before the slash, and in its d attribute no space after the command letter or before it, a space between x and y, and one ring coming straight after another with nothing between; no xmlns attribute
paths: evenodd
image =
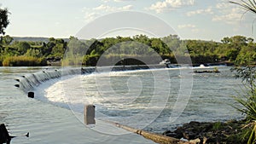
<svg viewBox="0 0 256 144"><path fill-rule="evenodd" d="M114 124L115 126L127 130L127 131L131 131L132 133L136 133L137 135L142 135L143 137L145 137L148 140L154 141L156 143L160 143L160 144L194 144L192 142L189 141L181 141L179 139L173 138L173 137L169 137L169 136L165 136L165 135L158 135L158 134L154 134L145 130L137 130L134 128L131 128L129 126L125 126L122 124L117 124L117 123L112 123L109 122L111 124Z"/></svg>

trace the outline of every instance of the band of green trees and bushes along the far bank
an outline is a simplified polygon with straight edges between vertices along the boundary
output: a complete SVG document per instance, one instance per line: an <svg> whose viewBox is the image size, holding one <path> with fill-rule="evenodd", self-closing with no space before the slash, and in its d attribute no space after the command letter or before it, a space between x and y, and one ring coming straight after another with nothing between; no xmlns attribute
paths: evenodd
<svg viewBox="0 0 256 144"><path fill-rule="evenodd" d="M65 53L66 52L66 53ZM50 37L45 42L14 41L9 35L1 38L0 65L45 66L47 61L61 60L65 65L96 66L99 59L118 61L118 65L150 64L177 57L191 57L193 64L232 62L236 65L256 65L256 43L252 37L224 37L221 42L181 40L177 35L166 37L106 37L102 39L69 40ZM65 58L65 59L64 59ZM186 63L186 61L184 61ZM104 65L104 64L103 64ZM108 64L106 64L108 65Z"/></svg>

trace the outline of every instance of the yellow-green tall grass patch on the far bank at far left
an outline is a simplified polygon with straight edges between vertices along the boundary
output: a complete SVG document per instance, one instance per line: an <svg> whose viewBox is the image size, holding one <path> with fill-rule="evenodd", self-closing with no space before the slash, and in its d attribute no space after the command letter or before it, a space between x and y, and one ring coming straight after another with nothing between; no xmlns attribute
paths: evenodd
<svg viewBox="0 0 256 144"><path fill-rule="evenodd" d="M9 56L3 60L3 66L46 66L44 58L32 56Z"/></svg>

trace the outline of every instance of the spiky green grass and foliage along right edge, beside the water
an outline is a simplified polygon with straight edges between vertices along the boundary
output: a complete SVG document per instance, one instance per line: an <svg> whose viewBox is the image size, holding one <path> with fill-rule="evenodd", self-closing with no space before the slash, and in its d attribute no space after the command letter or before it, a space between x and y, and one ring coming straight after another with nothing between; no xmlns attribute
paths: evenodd
<svg viewBox="0 0 256 144"><path fill-rule="evenodd" d="M255 89L255 66L236 67L232 70L236 72L236 78L241 78L245 85L243 95L234 96L234 99L241 104L233 106L238 111L246 115L245 134L243 138L247 140L247 144L256 143L256 89Z"/></svg>

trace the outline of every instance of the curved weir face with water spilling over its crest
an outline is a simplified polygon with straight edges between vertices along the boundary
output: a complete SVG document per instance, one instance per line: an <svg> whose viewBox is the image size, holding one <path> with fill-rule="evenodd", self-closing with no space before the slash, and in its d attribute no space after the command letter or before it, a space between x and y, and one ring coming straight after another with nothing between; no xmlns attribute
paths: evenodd
<svg viewBox="0 0 256 144"><path fill-rule="evenodd" d="M43 72L29 73L15 78L17 82L20 82L19 88L24 92L32 90L39 84L54 78L61 78L68 75L78 74L90 74L93 72L119 72L119 71L135 71L145 69L159 69L166 68L166 65L137 65L137 66L97 66L97 67L70 67L55 70L45 70ZM18 86L16 86L18 87Z"/></svg>

